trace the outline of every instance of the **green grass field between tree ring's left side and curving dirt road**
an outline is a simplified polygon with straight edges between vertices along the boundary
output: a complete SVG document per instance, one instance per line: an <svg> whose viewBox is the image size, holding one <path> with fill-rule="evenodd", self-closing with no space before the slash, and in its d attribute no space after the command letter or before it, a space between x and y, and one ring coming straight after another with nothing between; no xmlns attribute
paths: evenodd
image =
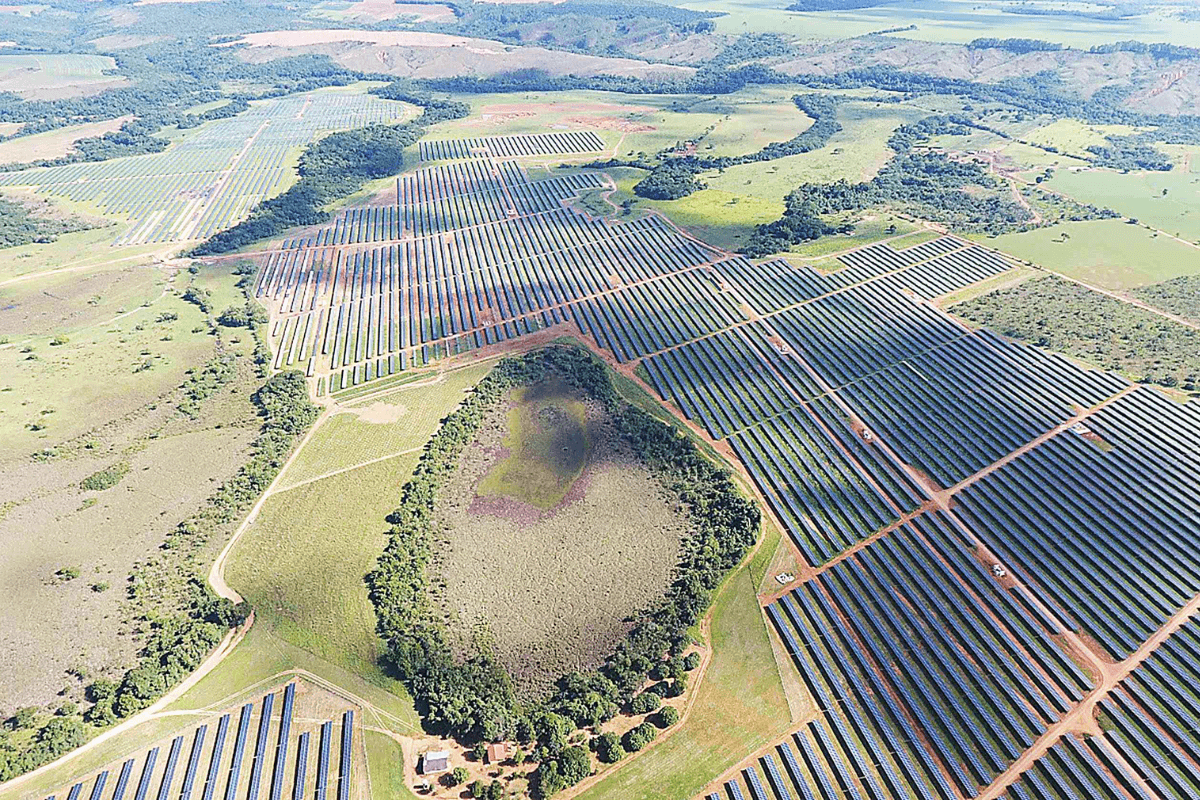
<svg viewBox="0 0 1200 800"><path fill-rule="evenodd" d="M367 401L359 414L329 417L308 440L226 567L229 585L250 599L277 636L403 691L377 663L374 610L364 577L383 552L385 517L400 501L416 450L487 368L396 390L386 403ZM330 473L337 474L319 477Z"/></svg>

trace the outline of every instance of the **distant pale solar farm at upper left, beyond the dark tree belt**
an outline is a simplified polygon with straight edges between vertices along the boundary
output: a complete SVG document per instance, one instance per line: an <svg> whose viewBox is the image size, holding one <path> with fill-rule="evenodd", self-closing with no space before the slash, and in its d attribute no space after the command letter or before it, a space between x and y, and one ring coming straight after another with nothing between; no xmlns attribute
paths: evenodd
<svg viewBox="0 0 1200 800"><path fill-rule="evenodd" d="M0 173L0 186L126 219L114 245L205 239L287 188L299 149L318 133L395 121L407 108L349 92L292 95L203 125L158 154Z"/></svg>

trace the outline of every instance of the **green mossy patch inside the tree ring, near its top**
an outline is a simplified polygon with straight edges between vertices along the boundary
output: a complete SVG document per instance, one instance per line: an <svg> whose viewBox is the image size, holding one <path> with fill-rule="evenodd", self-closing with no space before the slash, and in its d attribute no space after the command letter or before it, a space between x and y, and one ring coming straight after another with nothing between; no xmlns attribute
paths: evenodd
<svg viewBox="0 0 1200 800"><path fill-rule="evenodd" d="M560 380L512 392L506 455L479 482L484 497L504 495L541 510L557 506L592 456L587 410Z"/></svg>

